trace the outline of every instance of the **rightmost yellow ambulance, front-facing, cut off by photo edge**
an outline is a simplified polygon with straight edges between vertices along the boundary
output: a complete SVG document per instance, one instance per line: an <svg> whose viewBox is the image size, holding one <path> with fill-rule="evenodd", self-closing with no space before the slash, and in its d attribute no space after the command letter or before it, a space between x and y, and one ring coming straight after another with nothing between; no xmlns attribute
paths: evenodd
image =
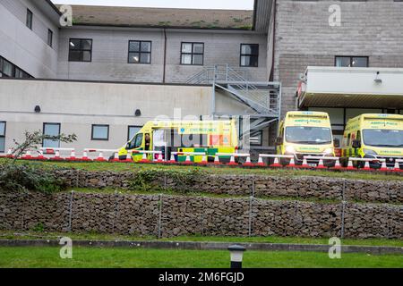
<svg viewBox="0 0 403 286"><path fill-rule="evenodd" d="M385 159L388 167L394 167L396 160L403 159L403 115L361 114L350 119L343 136L342 164L347 165L348 157ZM399 166L403 168L403 163Z"/></svg>

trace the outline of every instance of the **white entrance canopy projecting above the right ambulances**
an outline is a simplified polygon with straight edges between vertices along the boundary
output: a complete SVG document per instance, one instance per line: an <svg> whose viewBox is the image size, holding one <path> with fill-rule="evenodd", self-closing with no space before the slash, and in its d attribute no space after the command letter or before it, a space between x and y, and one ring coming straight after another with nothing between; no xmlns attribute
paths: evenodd
<svg viewBox="0 0 403 286"><path fill-rule="evenodd" d="M309 66L298 85L298 107L403 109L403 68Z"/></svg>

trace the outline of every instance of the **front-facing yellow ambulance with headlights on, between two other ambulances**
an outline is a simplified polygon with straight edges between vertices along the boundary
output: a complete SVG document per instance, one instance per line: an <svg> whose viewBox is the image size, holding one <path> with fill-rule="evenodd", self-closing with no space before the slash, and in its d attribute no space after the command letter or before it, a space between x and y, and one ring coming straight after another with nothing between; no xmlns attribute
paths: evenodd
<svg viewBox="0 0 403 286"><path fill-rule="evenodd" d="M316 165L323 156L335 156L331 133L330 117L327 113L311 111L288 112L279 124L276 140L277 154L293 155L296 164L303 164L304 156L314 156L308 164ZM338 146L336 146L338 147ZM282 164L289 164L282 159ZM326 166L334 166L335 161L323 161Z"/></svg>

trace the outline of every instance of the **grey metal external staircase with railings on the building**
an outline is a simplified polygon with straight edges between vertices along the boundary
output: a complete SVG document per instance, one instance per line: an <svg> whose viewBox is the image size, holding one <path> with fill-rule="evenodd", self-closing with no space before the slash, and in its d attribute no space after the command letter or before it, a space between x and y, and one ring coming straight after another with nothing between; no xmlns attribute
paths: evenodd
<svg viewBox="0 0 403 286"><path fill-rule="evenodd" d="M249 116L251 124L244 134L263 130L274 122L279 122L281 109L281 85L278 82L250 81L249 72L236 69L228 64L206 67L187 80L187 84L211 84L213 86L212 115L220 115L216 111L216 92L220 91L228 97L242 103L243 114L227 114L231 116ZM244 134L242 134L244 136Z"/></svg>

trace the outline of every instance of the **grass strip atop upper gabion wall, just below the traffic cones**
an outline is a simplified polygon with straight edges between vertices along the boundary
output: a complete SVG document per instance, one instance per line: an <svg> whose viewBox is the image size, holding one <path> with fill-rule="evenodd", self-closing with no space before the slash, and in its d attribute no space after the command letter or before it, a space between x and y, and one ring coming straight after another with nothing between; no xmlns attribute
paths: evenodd
<svg viewBox="0 0 403 286"><path fill-rule="evenodd" d="M7 159L0 159L2 161ZM246 174L246 175L275 175L275 176L322 176L334 178L346 178L357 180L395 180L403 181L403 176L376 172L331 172L320 170L296 170L296 169L270 169L270 168L239 168L239 167L226 167L226 166L188 166L188 165L164 165L164 164L123 164L123 163L70 163L70 162L34 162L34 161L18 161L18 164L34 164L38 167L51 168L74 168L78 170L87 171L113 171L113 172L136 172L139 170L147 169L161 169L161 170L200 170L206 173L217 174Z"/></svg>

